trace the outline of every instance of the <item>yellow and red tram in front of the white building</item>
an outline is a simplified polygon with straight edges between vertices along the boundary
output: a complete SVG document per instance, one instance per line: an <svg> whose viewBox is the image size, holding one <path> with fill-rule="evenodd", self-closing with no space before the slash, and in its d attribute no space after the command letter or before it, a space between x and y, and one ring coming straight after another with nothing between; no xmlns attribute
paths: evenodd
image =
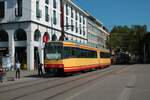
<svg viewBox="0 0 150 100"><path fill-rule="evenodd" d="M73 42L48 42L44 49L44 69L59 74L73 73L111 64L110 53Z"/></svg>

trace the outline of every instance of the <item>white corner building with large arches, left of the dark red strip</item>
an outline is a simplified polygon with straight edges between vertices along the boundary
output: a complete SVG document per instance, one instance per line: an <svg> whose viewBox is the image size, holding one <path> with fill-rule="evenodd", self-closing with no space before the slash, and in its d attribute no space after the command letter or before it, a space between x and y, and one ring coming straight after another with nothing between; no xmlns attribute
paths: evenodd
<svg viewBox="0 0 150 100"><path fill-rule="evenodd" d="M1 55L34 69L43 62L43 40L61 35L60 14L60 0L0 0Z"/></svg>

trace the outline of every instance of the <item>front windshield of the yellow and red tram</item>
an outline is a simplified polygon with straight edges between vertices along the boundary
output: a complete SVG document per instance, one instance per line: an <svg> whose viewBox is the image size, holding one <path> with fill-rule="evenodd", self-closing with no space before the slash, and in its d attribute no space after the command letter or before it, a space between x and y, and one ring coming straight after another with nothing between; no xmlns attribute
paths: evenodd
<svg viewBox="0 0 150 100"><path fill-rule="evenodd" d="M62 59L62 43L50 42L45 45L44 58L46 60Z"/></svg>

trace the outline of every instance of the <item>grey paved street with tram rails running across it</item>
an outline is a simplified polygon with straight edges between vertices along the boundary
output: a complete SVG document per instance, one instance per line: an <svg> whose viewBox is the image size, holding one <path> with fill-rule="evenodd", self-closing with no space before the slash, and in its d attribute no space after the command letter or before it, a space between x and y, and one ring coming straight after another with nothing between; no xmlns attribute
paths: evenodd
<svg viewBox="0 0 150 100"><path fill-rule="evenodd" d="M68 77L36 72L0 83L0 100L150 100L150 65L113 65Z"/></svg>

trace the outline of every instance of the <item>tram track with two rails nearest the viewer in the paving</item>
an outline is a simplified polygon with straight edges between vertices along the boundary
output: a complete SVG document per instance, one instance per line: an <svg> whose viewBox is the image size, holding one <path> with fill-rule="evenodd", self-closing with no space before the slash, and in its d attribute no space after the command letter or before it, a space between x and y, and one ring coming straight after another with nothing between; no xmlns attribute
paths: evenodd
<svg viewBox="0 0 150 100"><path fill-rule="evenodd" d="M11 100L19 100L20 98L24 98L24 97L27 97L27 96L31 96L31 95L34 95L34 94L37 94L37 93L40 93L40 92L44 92L44 91L47 91L47 90L51 90L51 89L57 89L58 87L64 87L65 85L70 84L70 83L72 83L72 82L80 81L80 80L83 80L83 79L86 80L86 79L88 79L89 77L91 77L91 79L88 80L88 81L85 81L85 82L83 82L83 83L81 83L81 84L72 86L72 87L70 87L70 88L68 88L68 89L65 89L65 90L63 90L63 91L60 91L60 92L58 92L58 93L56 93L56 94L54 94L54 95L51 95L51 96L45 98L45 100L49 100L49 99L52 99L52 98L54 98L54 97L56 97L56 96L59 96L59 95L61 95L61 94L63 94L63 93L66 93L66 92L68 92L68 91L70 91L70 90L72 90L72 89L75 89L75 88L77 88L77 87L81 87L81 86L83 86L83 85L85 85L85 84L88 84L88 83L90 83L90 82L92 82L92 81L95 81L95 80L97 80L98 78L102 78L102 77L106 77L106 76L112 75L112 74L115 73L116 71L120 71L120 70L122 70L122 69L124 69L124 68L126 68L126 67L123 67L123 68L113 68L113 69L110 69L110 70L103 70L103 71L101 71L102 74L100 74L100 75L97 75L98 73L100 73L100 72L98 71L98 72L95 72L95 73L92 73L92 74L84 75L84 76L82 76L82 77L76 77L75 79L71 79L71 80L69 80L69 81L61 82L61 83L58 83L58 84L55 84L55 85L48 86L48 87L46 87L46 88L42 88L42 89L39 89L39 90L36 90L36 91L32 91L32 92L25 93L25 94L20 95L20 96L13 97ZM94 76L95 78L94 78L93 76ZM63 80L64 80L64 79L63 79Z"/></svg>

